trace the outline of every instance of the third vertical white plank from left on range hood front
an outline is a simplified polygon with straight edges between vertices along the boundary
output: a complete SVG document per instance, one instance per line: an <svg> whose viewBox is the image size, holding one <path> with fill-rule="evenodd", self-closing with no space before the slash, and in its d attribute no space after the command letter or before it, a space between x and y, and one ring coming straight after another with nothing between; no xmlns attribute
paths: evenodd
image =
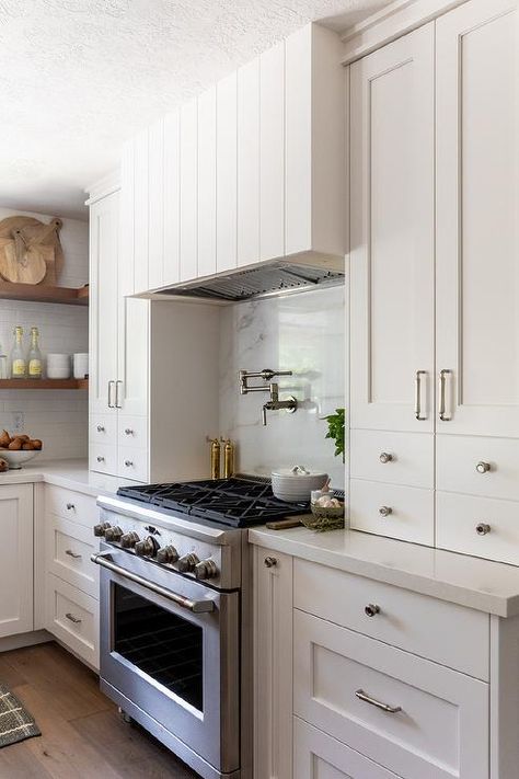
<svg viewBox="0 0 519 779"><path fill-rule="evenodd" d="M148 168L148 286L157 289L163 279L164 255L164 123L159 119L149 129Z"/></svg>

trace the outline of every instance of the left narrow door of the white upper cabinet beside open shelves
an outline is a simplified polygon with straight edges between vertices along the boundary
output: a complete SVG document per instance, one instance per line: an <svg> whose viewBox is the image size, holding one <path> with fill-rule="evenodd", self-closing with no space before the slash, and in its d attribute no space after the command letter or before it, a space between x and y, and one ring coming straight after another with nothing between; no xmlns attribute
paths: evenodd
<svg viewBox="0 0 519 779"><path fill-rule="evenodd" d="M119 193L90 209L90 410L115 413Z"/></svg>

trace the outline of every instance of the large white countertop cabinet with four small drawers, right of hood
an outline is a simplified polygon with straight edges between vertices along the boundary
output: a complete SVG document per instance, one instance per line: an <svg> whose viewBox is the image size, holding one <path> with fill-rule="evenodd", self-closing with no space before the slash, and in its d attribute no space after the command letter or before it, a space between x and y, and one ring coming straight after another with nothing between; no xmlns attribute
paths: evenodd
<svg viewBox="0 0 519 779"><path fill-rule="evenodd" d="M350 66L351 526L516 564L517 14Z"/></svg>

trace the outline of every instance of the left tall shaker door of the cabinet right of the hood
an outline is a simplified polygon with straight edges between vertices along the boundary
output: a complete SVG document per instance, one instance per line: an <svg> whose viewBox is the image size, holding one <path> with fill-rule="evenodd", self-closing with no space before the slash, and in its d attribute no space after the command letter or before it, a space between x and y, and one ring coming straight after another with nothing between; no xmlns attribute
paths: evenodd
<svg viewBox="0 0 519 779"><path fill-rule="evenodd" d="M353 427L434 428L434 57L428 24L350 69Z"/></svg>

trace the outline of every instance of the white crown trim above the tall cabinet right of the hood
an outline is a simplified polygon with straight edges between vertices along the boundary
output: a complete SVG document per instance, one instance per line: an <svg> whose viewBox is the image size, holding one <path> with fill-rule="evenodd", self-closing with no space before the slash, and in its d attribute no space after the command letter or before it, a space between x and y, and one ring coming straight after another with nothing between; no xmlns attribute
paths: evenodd
<svg viewBox="0 0 519 779"><path fill-rule="evenodd" d="M341 34L343 65L349 65L396 41L468 0L394 0L381 11Z"/></svg>

